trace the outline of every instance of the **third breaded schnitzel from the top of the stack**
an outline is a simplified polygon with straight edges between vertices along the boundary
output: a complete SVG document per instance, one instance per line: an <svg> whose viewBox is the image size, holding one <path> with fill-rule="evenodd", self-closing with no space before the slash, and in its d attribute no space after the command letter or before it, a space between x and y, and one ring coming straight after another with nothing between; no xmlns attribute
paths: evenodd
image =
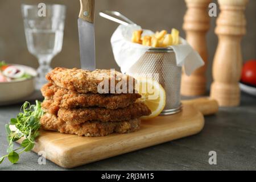
<svg viewBox="0 0 256 182"><path fill-rule="evenodd" d="M47 108L44 108L47 111ZM58 111L58 117L72 125L78 125L86 121L128 121L143 115L150 115L151 111L142 102L137 102L120 109L105 109L102 107L89 107L81 109L63 109Z"/></svg>

